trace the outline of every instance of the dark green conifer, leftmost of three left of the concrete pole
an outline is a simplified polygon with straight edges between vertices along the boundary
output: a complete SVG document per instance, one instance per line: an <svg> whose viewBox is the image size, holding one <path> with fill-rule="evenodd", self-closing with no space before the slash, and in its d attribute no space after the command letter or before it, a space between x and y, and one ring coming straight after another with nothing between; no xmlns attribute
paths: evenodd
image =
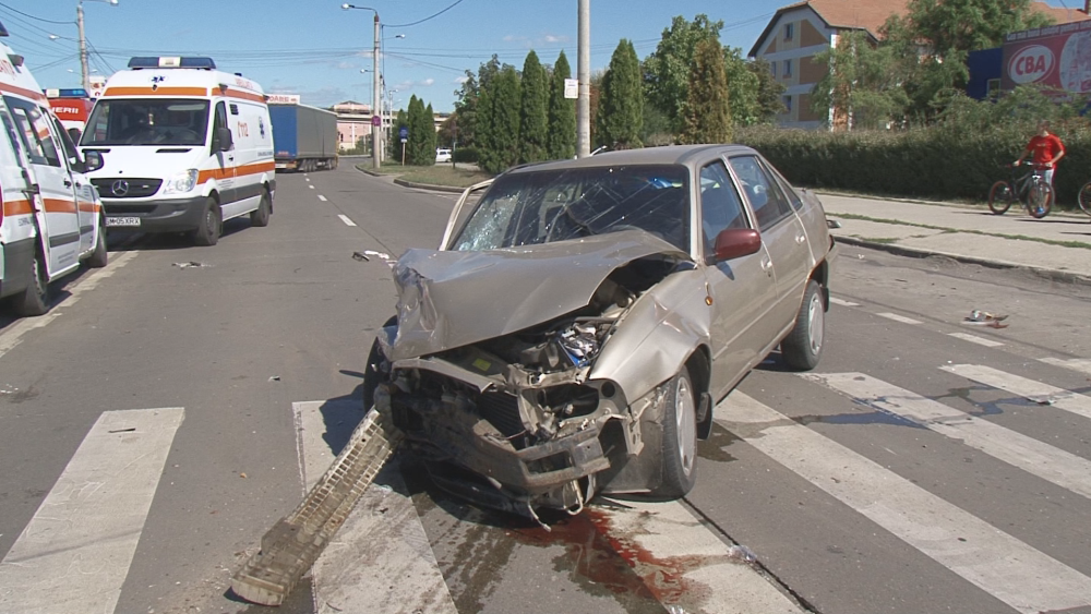
<svg viewBox="0 0 1091 614"><path fill-rule="evenodd" d="M481 107L479 113L487 115L489 124L487 137L479 143L479 164L487 172L499 173L519 159L519 74L515 67L504 64L482 88Z"/></svg>

